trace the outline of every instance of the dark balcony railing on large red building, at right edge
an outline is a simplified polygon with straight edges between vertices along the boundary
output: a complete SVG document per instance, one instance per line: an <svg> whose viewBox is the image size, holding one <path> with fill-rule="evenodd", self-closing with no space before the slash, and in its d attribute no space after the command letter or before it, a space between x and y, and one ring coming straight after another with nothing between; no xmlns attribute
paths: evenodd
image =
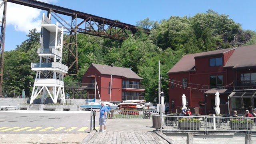
<svg viewBox="0 0 256 144"><path fill-rule="evenodd" d="M255 89L256 80L234 81L235 89Z"/></svg>

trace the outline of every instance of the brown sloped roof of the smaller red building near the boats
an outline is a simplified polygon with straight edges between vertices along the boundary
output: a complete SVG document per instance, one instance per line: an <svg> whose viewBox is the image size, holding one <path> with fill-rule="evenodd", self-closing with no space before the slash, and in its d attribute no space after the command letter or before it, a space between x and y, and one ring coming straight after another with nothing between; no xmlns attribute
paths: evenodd
<svg viewBox="0 0 256 144"><path fill-rule="evenodd" d="M126 78L141 79L135 72L130 68L122 68L117 66L108 66L102 64L92 64L101 74L114 75L114 76L124 76Z"/></svg>

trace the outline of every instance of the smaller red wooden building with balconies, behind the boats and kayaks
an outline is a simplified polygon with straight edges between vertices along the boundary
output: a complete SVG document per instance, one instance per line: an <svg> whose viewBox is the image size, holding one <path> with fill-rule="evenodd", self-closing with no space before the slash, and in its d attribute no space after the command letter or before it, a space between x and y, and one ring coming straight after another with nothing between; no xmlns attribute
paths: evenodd
<svg viewBox="0 0 256 144"><path fill-rule="evenodd" d="M89 83L91 89L87 90L87 98L94 98L95 81L98 85L96 89L96 99L102 101L122 102L122 100L144 100L144 85L135 72L130 68L107 66L101 64L91 64L85 72L82 82Z"/></svg>

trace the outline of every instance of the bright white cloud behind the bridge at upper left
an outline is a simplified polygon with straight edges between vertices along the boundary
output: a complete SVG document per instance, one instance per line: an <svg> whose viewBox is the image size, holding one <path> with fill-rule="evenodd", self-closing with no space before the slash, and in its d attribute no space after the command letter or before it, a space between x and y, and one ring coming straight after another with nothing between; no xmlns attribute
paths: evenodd
<svg viewBox="0 0 256 144"><path fill-rule="evenodd" d="M55 3L57 0L39 0L46 3ZM0 8L0 15L2 20L4 6ZM42 19L42 10L31 8L20 4L7 2L6 25L14 26L14 30L18 32L25 32L28 34L29 30L36 28L40 31L40 24ZM46 12L47 13L47 12Z"/></svg>

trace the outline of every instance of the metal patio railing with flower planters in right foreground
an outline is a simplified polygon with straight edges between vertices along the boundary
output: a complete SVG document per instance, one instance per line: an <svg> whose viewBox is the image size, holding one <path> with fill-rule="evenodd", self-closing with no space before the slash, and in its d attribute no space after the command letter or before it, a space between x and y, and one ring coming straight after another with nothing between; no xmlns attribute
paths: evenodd
<svg viewBox="0 0 256 144"><path fill-rule="evenodd" d="M166 116L164 130L179 131L250 131L256 132L255 118L229 116Z"/></svg>

